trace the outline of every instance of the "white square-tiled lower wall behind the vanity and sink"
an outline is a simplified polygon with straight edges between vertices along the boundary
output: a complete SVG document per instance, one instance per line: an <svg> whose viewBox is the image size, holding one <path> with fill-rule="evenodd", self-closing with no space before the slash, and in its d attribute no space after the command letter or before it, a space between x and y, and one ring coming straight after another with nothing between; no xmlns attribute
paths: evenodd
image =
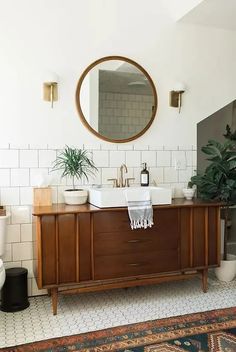
<svg viewBox="0 0 236 352"><path fill-rule="evenodd" d="M140 182L141 162L146 162L150 172L150 184L172 188L175 197L182 197L182 188L196 169L196 146L155 146L124 144L94 144L77 146L90 150L98 173L84 179L82 184L111 186L108 178L117 178L119 167L126 164L127 177L134 177L131 184ZM52 172L52 162L62 145L0 145L0 200L11 213L7 226L7 240L3 257L6 268L22 266L29 271L30 295L44 294L38 290L34 278L32 239L33 187L50 180L53 202L62 203L63 191L71 185L70 179L61 179ZM179 166L176 169L176 165ZM79 183L79 182L78 182Z"/></svg>

